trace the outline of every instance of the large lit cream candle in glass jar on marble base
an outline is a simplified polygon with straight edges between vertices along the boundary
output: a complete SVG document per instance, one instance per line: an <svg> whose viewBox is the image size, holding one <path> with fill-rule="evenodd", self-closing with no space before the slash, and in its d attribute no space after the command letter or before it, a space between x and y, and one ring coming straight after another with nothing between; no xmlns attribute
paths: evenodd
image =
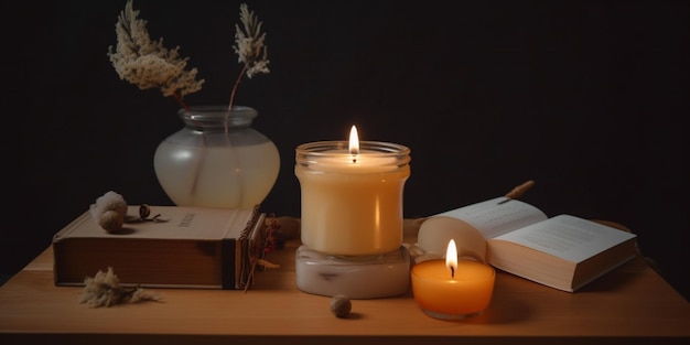
<svg viewBox="0 0 690 345"><path fill-rule="evenodd" d="M301 239L330 255L385 254L402 245L402 192L410 149L359 141L321 141L297 148L302 192Z"/></svg>

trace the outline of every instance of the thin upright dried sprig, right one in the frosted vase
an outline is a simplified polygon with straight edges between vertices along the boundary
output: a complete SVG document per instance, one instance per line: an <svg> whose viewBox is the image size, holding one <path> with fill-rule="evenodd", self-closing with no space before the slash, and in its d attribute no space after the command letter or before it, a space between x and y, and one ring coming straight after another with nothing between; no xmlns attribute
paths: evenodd
<svg viewBox="0 0 690 345"><path fill-rule="evenodd" d="M254 11L249 11L246 3L239 6L239 21L242 23L242 26L240 28L239 24L235 24L235 45L233 45L233 50L237 53L237 62L244 65L233 86L230 104L228 106L229 110L233 109L237 87L245 74L251 79L256 74L270 73L268 68L268 64L270 63L268 61L268 47L263 43L266 41L266 33L261 32L263 22L259 21L259 18Z"/></svg>

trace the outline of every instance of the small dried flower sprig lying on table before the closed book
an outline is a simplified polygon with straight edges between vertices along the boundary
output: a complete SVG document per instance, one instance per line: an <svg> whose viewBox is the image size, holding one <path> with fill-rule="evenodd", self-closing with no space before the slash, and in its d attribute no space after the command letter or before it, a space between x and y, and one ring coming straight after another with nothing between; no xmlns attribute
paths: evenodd
<svg viewBox="0 0 690 345"><path fill-rule="evenodd" d="M86 303L90 308L112 306L121 303L137 303L142 301L162 301L162 297L155 292L142 288L120 287L120 280L108 267L108 271L98 271L94 278L84 279L86 287L79 295L79 303Z"/></svg>

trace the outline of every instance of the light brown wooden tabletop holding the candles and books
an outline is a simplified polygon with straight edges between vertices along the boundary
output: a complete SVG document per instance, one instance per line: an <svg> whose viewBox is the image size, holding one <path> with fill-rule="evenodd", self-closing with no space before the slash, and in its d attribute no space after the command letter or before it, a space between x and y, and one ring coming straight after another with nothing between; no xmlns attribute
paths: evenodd
<svg viewBox="0 0 690 345"><path fill-rule="evenodd" d="M416 233L406 240L413 237ZM498 272L488 310L464 321L427 316L411 292L355 300L351 317L337 319L328 310L330 298L297 289L298 246L291 240L272 252L269 259L281 267L258 272L248 292L158 289L164 303L100 309L77 302L82 288L53 284L53 254L47 248L0 288L0 344L562 345L690 339L690 305L642 259L576 293Z"/></svg>

